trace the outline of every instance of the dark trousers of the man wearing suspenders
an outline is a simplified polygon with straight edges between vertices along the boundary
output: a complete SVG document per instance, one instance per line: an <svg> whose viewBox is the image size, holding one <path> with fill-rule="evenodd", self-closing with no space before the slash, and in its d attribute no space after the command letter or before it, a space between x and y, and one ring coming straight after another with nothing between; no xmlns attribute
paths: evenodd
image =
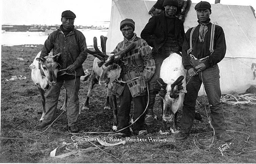
<svg viewBox="0 0 256 164"><path fill-rule="evenodd" d="M190 78L187 72L186 80L189 80L187 84L188 93L185 94L183 102L183 113L180 121L181 131L184 133L191 132L193 120L195 117L195 106L198 91L203 82L210 105L211 124L214 127L216 134L219 134L226 130L223 106L220 102L221 89L219 67L217 65L216 67L206 68L204 71L198 73L198 75Z"/></svg>

